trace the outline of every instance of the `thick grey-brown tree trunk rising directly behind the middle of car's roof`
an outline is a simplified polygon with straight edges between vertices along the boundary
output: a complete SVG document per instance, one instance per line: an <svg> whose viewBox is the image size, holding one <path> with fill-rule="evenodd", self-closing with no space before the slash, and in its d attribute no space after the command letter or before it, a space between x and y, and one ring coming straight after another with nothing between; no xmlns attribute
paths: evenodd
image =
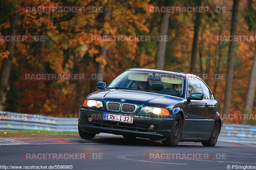
<svg viewBox="0 0 256 170"><path fill-rule="evenodd" d="M167 36L168 24L169 24L170 13L164 13L161 18L160 36ZM158 42L157 53L156 53L156 68L164 69L164 58L166 41Z"/></svg>

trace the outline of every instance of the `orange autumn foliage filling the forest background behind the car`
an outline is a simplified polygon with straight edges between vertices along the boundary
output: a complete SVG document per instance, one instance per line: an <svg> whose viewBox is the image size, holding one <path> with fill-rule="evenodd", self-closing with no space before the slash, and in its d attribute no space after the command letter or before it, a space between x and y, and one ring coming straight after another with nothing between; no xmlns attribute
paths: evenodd
<svg viewBox="0 0 256 170"><path fill-rule="evenodd" d="M17 6L64 6L62 1L20 0ZM148 6L158 5L151 1L96 1L78 0L70 6L104 6L110 9L110 16L102 18L100 13L22 13L20 32L27 35L44 35L45 42L16 43L12 77L23 73L97 73L97 65L105 67L104 81L110 82L116 75L131 67L155 67L156 42L107 42L106 58L100 55L100 47L105 42L92 42L92 35L159 35L161 14L149 13ZM183 2L176 1L176 6ZM208 5L208 4L207 4ZM246 3L241 2L241 10ZM213 1L212 6L226 6L232 9L231 1ZM12 15L13 15L12 14ZM189 72L194 33L193 13L171 14L165 56L165 69ZM103 21L104 20L104 21ZM203 73L214 75L227 70L228 43L217 42L212 37L230 32L231 12L202 14L198 40L196 69L200 72L199 53L202 54ZM238 35L252 35L244 18L239 14ZM0 25L0 30L10 28L10 21ZM19 33L20 33L19 32ZM234 83L232 93L232 113L242 113L245 94L249 82L255 45L237 43ZM6 43L0 43L0 61L7 58ZM221 50L219 51L219 47ZM218 64L219 52L221 54ZM217 88L214 95L224 103L225 80L206 80L210 89ZM42 113L51 116L77 116L81 100L95 90L96 81L24 81L11 80L18 89L15 98L16 110L24 113ZM11 105L11 104L9 104ZM254 106L254 111L256 110ZM237 122L235 122L237 123Z"/></svg>

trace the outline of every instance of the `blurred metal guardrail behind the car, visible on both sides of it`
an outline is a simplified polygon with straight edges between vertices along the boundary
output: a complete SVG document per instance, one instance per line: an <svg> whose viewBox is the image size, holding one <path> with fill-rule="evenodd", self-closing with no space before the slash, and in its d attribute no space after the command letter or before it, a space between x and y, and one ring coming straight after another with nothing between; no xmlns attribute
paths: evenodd
<svg viewBox="0 0 256 170"><path fill-rule="evenodd" d="M77 118L0 111L0 130L77 131ZM219 140L256 144L256 126L223 124Z"/></svg>

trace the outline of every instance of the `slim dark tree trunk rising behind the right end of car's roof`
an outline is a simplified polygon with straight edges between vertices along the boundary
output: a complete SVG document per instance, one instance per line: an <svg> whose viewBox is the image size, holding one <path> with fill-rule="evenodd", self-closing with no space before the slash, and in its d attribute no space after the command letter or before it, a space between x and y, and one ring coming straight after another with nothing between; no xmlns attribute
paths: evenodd
<svg viewBox="0 0 256 170"><path fill-rule="evenodd" d="M196 1L196 6L201 6L202 0ZM197 41L198 41L198 33L199 27L201 23L201 13L196 13L195 25L194 25L194 38L191 52L191 63L190 63L190 73L196 72L196 54L197 54Z"/></svg>

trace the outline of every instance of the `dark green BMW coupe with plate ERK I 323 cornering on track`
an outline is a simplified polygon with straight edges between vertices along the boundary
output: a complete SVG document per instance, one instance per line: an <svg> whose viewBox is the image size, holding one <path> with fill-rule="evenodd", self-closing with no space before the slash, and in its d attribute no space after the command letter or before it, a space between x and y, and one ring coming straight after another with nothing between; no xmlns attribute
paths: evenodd
<svg viewBox="0 0 256 170"><path fill-rule="evenodd" d="M164 146L179 142L217 143L220 102L198 76L182 72L131 68L81 103L78 132L92 139L100 132L124 138L149 138Z"/></svg>

